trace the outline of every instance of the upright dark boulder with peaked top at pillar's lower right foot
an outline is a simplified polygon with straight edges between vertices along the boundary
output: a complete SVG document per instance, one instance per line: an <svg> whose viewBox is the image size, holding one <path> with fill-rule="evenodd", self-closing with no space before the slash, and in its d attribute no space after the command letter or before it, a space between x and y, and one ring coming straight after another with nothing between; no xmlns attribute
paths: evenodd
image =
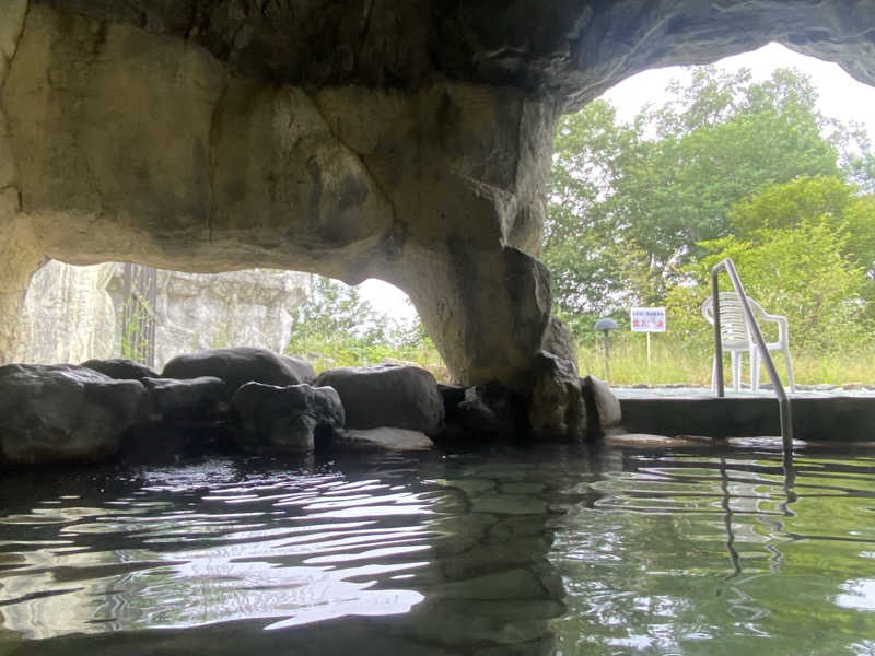
<svg viewBox="0 0 875 656"><path fill-rule="evenodd" d="M586 434L586 409L574 365L540 351L535 358L535 387L528 409L532 433L539 440L575 440Z"/></svg>

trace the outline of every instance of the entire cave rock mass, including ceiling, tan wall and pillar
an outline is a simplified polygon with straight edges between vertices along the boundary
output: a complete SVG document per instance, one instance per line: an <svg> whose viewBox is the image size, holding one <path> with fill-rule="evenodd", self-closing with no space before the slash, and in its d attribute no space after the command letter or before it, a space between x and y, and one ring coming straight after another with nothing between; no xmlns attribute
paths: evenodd
<svg viewBox="0 0 875 656"><path fill-rule="evenodd" d="M460 382L530 391L558 114L769 39L873 82L874 32L858 0L8 0L0 362L44 254L267 266L387 280Z"/></svg>

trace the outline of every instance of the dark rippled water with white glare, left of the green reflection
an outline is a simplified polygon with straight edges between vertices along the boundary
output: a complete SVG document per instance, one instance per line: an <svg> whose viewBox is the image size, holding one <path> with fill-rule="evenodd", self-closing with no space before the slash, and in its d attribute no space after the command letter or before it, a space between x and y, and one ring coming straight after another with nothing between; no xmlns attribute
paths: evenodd
<svg viewBox="0 0 875 656"><path fill-rule="evenodd" d="M93 649L83 635L102 653L185 651L230 622L291 648L361 629L352 618L395 648L549 653L564 610L537 467L393 456L37 477L0 482L0 646L14 632L22 653Z"/></svg>

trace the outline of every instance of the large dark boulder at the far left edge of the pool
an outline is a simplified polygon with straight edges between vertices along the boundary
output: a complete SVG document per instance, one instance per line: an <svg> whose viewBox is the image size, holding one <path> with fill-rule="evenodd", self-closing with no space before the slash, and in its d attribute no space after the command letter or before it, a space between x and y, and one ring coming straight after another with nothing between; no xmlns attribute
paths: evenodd
<svg viewBox="0 0 875 656"><path fill-rule="evenodd" d="M95 462L116 454L143 398L138 380L75 365L0 367L0 459Z"/></svg>

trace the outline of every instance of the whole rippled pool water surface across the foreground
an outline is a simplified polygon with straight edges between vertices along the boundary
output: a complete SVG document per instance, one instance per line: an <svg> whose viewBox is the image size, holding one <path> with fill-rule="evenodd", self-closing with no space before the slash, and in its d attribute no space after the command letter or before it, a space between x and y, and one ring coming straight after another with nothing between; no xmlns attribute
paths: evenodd
<svg viewBox="0 0 875 656"><path fill-rule="evenodd" d="M0 655L875 654L875 452L0 480Z"/></svg>

